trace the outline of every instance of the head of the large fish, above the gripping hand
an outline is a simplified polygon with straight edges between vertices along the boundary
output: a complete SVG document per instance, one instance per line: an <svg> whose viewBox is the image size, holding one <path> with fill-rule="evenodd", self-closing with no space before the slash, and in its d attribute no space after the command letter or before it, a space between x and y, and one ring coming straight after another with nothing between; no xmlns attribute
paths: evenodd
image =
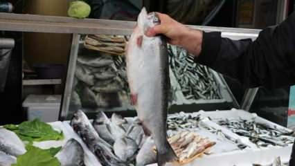
<svg viewBox="0 0 295 166"><path fill-rule="evenodd" d="M143 8L137 18L137 26L141 30L142 34L145 34L146 30L161 24L157 12L147 13L147 10Z"/></svg>

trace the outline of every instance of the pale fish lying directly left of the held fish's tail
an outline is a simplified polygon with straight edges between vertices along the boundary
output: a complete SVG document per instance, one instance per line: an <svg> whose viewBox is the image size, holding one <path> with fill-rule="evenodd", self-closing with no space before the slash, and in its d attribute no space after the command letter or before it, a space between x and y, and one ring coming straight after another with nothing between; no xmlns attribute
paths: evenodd
<svg viewBox="0 0 295 166"><path fill-rule="evenodd" d="M143 143L143 147L138 151L136 156L136 166L150 165L157 163L157 154L153 151L154 140L148 137Z"/></svg>

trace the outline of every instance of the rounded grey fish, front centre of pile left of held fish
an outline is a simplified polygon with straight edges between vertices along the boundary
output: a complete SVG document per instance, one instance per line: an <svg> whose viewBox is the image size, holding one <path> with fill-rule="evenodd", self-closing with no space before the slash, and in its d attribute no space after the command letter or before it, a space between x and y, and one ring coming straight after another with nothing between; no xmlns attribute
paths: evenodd
<svg viewBox="0 0 295 166"><path fill-rule="evenodd" d="M138 145L132 138L119 138L114 143L114 153L123 161L132 160L137 151Z"/></svg>

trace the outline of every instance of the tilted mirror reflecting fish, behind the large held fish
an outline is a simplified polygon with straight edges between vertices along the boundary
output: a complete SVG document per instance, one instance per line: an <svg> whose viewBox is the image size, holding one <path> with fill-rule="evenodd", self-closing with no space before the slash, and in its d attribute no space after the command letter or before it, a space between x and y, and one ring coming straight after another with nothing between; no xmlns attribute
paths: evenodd
<svg viewBox="0 0 295 166"><path fill-rule="evenodd" d="M78 35L69 60L62 113L77 109L92 115L97 109L136 116L127 83L125 46L129 36ZM170 112L238 107L221 74L193 62L183 48L168 44Z"/></svg>

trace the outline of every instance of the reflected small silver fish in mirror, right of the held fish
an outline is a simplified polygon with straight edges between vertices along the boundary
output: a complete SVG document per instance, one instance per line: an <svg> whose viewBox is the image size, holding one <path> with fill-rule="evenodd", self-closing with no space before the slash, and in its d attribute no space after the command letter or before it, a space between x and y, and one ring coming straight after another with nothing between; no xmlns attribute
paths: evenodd
<svg viewBox="0 0 295 166"><path fill-rule="evenodd" d="M188 51L168 45L168 54L170 67L187 100L221 98L213 73L206 66L196 64Z"/></svg>

